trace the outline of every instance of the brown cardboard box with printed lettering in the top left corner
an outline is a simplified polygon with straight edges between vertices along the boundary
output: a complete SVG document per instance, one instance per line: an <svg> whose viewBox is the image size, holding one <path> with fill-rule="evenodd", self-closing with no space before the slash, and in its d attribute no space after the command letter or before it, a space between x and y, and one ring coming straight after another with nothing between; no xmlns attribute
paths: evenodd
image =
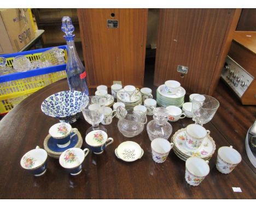
<svg viewBox="0 0 256 208"><path fill-rule="evenodd" d="M0 54L15 53L34 39L27 9L0 9Z"/></svg>

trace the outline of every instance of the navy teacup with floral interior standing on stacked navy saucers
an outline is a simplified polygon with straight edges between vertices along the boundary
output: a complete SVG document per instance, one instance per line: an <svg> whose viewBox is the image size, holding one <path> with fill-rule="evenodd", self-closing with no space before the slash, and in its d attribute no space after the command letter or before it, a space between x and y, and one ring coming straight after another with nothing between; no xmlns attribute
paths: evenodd
<svg viewBox="0 0 256 208"><path fill-rule="evenodd" d="M74 133L71 135L72 132ZM68 123L57 123L49 129L49 134L56 139L59 148L66 148L70 144L70 139L77 133L78 130Z"/></svg>

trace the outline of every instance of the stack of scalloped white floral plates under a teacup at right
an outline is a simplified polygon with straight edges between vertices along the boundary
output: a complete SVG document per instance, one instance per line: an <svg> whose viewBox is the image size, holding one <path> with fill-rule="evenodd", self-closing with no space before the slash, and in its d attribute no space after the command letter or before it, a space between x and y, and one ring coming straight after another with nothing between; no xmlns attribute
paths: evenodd
<svg viewBox="0 0 256 208"><path fill-rule="evenodd" d="M174 143L173 151L181 158L181 160L186 161L189 157L200 157L203 160L210 160L214 151L216 150L216 145L212 137L208 135L202 142L200 148L192 150L185 144L186 130L180 129L172 136L172 142Z"/></svg>

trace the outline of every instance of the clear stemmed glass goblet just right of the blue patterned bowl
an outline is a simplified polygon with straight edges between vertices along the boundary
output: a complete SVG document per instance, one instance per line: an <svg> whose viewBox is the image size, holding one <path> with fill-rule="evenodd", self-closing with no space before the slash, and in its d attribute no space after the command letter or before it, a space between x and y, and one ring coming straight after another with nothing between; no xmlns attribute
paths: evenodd
<svg viewBox="0 0 256 208"><path fill-rule="evenodd" d="M99 125L104 118L104 108L107 99L105 97L90 96L89 103L82 109L85 120L92 126L86 131L88 134L94 130L107 132L104 126Z"/></svg>

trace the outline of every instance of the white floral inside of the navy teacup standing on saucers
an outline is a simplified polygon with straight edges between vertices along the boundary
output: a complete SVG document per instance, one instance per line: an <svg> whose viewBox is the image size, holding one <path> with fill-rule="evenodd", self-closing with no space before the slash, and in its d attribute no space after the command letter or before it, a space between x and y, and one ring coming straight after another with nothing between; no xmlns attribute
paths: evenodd
<svg viewBox="0 0 256 208"><path fill-rule="evenodd" d="M71 125L68 123L57 123L50 127L49 134L54 138L63 138L71 132Z"/></svg>

